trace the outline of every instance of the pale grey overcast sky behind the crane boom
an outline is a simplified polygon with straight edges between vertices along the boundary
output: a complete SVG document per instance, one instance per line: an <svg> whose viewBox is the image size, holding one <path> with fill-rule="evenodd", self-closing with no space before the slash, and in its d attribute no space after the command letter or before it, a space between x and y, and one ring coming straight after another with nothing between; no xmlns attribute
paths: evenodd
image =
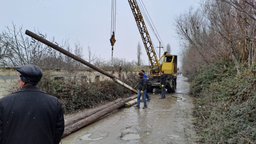
<svg viewBox="0 0 256 144"><path fill-rule="evenodd" d="M137 0L138 2L138 0ZM176 39L175 17L186 12L190 6L199 6L199 0L146 0L143 1L161 40L171 46L171 54L179 55L179 40ZM57 43L69 39L79 41L83 58L88 59L88 47L101 59L111 59L111 0L0 0L0 30L12 27L12 22L22 29L38 29L48 39L55 37ZM145 21L145 19L144 19ZM159 47L155 35L147 25L155 47ZM128 1L116 1L116 43L114 57L128 61L137 59L138 43L142 46L142 59L148 65L148 55L142 43ZM159 52L159 48L155 48ZM161 55L163 50L161 50ZM157 54L158 56L158 54Z"/></svg>

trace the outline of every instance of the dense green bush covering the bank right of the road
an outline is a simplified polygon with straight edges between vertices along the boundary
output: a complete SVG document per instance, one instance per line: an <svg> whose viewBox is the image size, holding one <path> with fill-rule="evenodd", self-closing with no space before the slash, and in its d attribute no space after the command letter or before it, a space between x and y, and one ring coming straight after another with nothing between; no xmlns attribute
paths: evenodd
<svg viewBox="0 0 256 144"><path fill-rule="evenodd" d="M228 64L205 67L193 79L197 125L205 143L256 143L256 73L244 66L237 74Z"/></svg>

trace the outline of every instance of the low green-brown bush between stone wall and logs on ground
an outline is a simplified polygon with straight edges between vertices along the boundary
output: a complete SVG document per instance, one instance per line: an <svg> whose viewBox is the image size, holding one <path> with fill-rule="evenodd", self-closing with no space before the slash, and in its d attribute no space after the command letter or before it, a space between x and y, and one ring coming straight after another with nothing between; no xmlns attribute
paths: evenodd
<svg viewBox="0 0 256 144"><path fill-rule="evenodd" d="M39 88L59 98L64 113L93 108L106 101L131 96L130 90L112 81L67 82L55 81L50 72L44 72Z"/></svg>

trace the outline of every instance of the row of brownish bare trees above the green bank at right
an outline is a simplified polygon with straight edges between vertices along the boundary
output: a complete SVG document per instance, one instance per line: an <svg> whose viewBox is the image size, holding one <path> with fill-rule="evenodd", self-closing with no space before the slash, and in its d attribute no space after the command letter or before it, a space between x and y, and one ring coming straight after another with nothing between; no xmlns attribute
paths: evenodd
<svg viewBox="0 0 256 144"><path fill-rule="evenodd" d="M253 0L202 1L202 9L176 18L176 32L183 46L183 70L196 71L218 59L239 65L255 62L256 6Z"/></svg>

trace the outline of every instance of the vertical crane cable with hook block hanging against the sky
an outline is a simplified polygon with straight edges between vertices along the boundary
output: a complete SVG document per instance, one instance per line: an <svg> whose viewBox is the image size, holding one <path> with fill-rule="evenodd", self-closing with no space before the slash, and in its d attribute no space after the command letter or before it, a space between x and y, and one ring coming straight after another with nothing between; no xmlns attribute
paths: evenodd
<svg viewBox="0 0 256 144"><path fill-rule="evenodd" d="M113 63L113 51L114 51L114 44L115 44L115 16L116 16L116 0L112 0L112 6L111 6L111 31L110 31L110 43L112 46L112 58L111 61ZM111 63L111 64L112 64Z"/></svg>

